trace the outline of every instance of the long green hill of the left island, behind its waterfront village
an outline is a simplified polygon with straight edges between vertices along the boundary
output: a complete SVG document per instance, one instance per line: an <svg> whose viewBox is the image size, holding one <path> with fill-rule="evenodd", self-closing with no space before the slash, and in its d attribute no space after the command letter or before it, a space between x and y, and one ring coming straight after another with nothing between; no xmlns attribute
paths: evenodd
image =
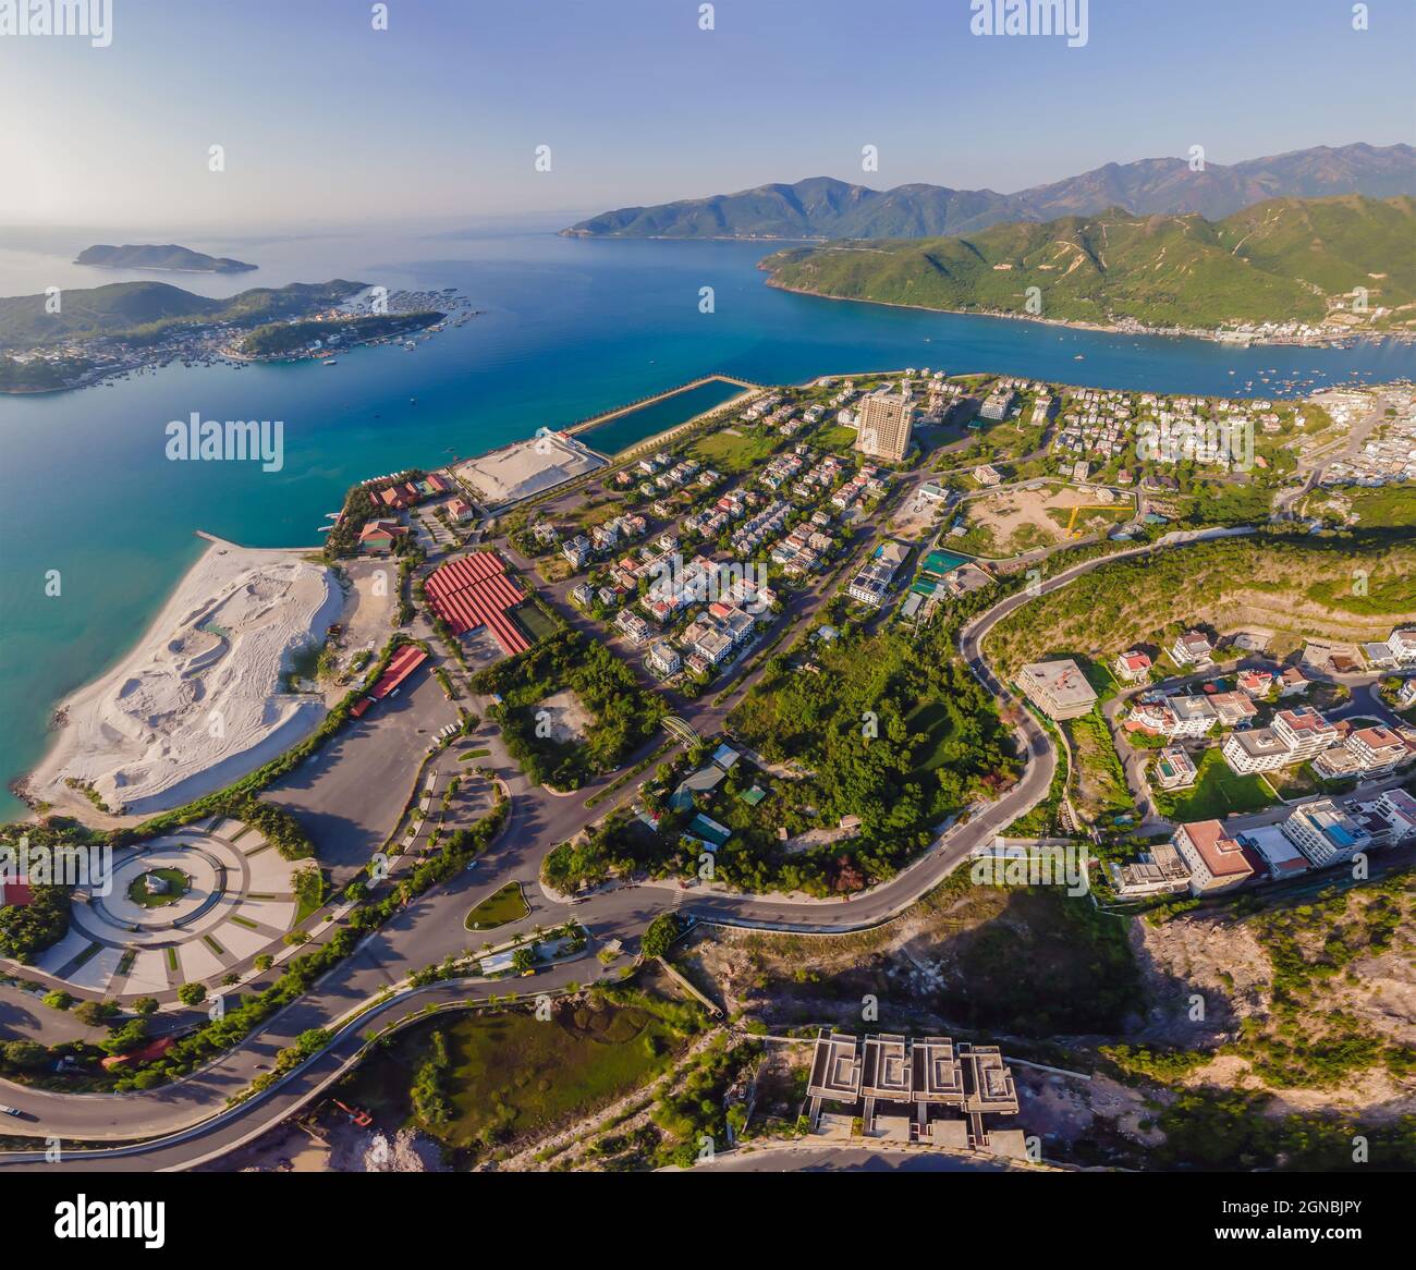
<svg viewBox="0 0 1416 1270"><path fill-rule="evenodd" d="M152 343L174 326L218 321L253 327L282 317L303 317L364 290L367 283L293 282L252 287L225 300L194 296L166 282L113 282L59 293L59 311L48 296L0 297L0 350L38 348L98 336Z"/></svg>

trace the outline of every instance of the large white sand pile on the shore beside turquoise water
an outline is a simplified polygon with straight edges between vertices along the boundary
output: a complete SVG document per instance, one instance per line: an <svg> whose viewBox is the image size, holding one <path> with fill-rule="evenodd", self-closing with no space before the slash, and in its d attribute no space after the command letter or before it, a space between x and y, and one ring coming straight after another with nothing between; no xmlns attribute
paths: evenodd
<svg viewBox="0 0 1416 1270"><path fill-rule="evenodd" d="M214 544L133 653L65 702L34 793L71 801L74 777L115 811L149 814L255 770L324 718L283 678L343 607L334 575L297 552Z"/></svg>

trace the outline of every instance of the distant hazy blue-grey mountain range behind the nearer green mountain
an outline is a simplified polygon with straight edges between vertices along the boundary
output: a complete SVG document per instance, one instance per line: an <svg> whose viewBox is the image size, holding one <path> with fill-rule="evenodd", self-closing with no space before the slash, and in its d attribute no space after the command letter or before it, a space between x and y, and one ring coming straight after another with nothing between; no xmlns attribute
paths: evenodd
<svg viewBox="0 0 1416 1270"><path fill-rule="evenodd" d="M1004 221L1051 221L1121 208L1141 215L1198 212L1222 219L1270 198L1416 194L1416 149L1406 144L1314 146L1243 163L1184 159L1107 163L1017 194L896 185L871 190L834 177L759 185L657 207L624 207L561 232L578 238L935 238Z"/></svg>

